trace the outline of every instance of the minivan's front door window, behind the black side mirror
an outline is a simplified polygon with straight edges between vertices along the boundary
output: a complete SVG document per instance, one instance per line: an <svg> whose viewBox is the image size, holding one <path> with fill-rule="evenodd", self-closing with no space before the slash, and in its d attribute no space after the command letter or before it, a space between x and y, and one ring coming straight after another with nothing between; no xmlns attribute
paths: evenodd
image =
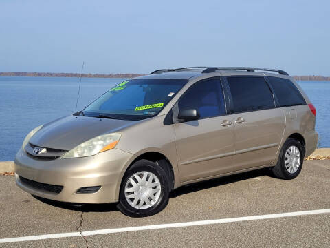
<svg viewBox="0 0 330 248"><path fill-rule="evenodd" d="M195 108L201 118L226 114L220 79L206 79L192 85L179 100L179 110Z"/></svg>

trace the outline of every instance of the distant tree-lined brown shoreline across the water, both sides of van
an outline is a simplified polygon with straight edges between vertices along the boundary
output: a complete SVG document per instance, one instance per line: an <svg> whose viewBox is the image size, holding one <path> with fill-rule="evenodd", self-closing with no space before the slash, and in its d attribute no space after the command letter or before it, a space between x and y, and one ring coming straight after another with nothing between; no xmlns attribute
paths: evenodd
<svg viewBox="0 0 330 248"><path fill-rule="evenodd" d="M133 78L142 76L138 73L117 73L117 74L82 74L84 78ZM56 72L0 72L0 76L43 76L43 77L80 77L79 73L56 73ZM299 81L330 81L330 76L293 76Z"/></svg>

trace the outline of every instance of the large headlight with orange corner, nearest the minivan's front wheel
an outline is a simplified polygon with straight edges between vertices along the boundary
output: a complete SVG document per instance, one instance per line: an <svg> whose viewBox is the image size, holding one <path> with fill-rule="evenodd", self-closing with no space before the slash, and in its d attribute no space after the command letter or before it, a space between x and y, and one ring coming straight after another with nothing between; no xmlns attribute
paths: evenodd
<svg viewBox="0 0 330 248"><path fill-rule="evenodd" d="M113 149L117 145L121 134L104 134L92 138L89 141L74 147L71 151L63 155L62 158L80 158L84 156L92 156L99 152Z"/></svg>

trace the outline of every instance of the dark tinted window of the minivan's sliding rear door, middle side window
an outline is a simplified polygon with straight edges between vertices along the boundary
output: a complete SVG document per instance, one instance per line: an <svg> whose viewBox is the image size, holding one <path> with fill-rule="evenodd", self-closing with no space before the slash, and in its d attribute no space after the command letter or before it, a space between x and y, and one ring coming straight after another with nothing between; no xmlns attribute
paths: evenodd
<svg viewBox="0 0 330 248"><path fill-rule="evenodd" d="M232 94L233 112L275 107L273 94L263 77L228 76L227 81Z"/></svg>

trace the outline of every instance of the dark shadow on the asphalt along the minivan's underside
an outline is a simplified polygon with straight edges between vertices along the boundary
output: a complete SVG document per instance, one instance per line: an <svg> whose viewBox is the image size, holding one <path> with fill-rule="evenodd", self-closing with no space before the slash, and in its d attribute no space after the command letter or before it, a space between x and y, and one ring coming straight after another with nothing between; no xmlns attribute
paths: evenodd
<svg viewBox="0 0 330 248"><path fill-rule="evenodd" d="M226 185L229 183L235 183L241 180L247 180L250 178L255 178L258 176L272 176L270 169L257 169L251 172L243 172L240 174L235 174L231 176L224 176L221 178L215 178L210 180L205 180L199 183L192 183L189 185L184 185L170 192L170 198L176 198L183 194L188 194L192 192L199 192L203 189L210 189L212 187L218 187L221 185ZM102 204L87 204L87 203L64 203L56 200L49 200L41 198L39 196L32 195L36 200L52 205L53 207L59 207L62 209L72 210L72 211L83 211L83 212L109 212L109 211L119 211L118 203L102 203Z"/></svg>

